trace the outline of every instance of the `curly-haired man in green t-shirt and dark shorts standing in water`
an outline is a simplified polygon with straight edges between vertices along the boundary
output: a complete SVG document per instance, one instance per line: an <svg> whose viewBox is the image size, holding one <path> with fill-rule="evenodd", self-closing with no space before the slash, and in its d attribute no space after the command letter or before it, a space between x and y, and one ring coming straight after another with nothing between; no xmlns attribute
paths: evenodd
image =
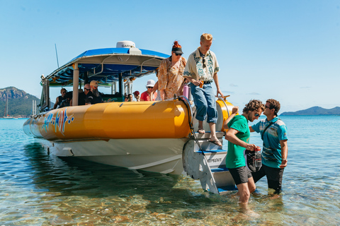
<svg viewBox="0 0 340 226"><path fill-rule="evenodd" d="M244 149L254 150L256 145L249 144L249 126L248 121L259 119L264 110L264 105L260 100L251 100L243 109L242 115L234 116L227 119L225 129L225 139L228 141L228 152L225 164L229 169L232 178L239 189L239 202L243 208L246 208L250 193L255 191L256 186L254 179L251 177L250 170L246 167L244 159ZM234 117L233 117L234 116Z"/></svg>

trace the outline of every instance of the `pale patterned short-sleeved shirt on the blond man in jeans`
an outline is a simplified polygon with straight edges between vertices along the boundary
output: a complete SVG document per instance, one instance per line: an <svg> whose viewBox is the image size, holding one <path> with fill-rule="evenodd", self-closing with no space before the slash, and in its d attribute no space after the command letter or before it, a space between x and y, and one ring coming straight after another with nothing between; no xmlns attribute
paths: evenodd
<svg viewBox="0 0 340 226"><path fill-rule="evenodd" d="M200 47L190 54L183 76L192 77L195 80L212 82L214 80L214 74L220 71L216 55L208 50L204 57L205 67L203 67L203 58L200 57L199 48Z"/></svg>

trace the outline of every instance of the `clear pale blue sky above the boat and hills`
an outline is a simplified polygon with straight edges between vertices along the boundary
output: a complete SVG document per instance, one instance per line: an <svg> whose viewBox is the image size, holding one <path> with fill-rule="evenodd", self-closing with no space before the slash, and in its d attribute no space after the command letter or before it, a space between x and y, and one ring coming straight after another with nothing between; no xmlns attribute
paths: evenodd
<svg viewBox="0 0 340 226"><path fill-rule="evenodd" d="M178 40L188 59L209 32L232 104L274 98L280 112L340 106L340 1L0 0L0 30L0 88L38 97L40 75L57 69L55 44L60 66L121 40L166 54ZM157 80L141 78L134 90L149 78Z"/></svg>

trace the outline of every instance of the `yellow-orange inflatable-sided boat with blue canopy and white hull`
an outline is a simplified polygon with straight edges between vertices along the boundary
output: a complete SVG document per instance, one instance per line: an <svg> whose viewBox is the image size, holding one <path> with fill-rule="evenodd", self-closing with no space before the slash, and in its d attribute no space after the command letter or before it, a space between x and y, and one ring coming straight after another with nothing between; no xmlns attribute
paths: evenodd
<svg viewBox="0 0 340 226"><path fill-rule="evenodd" d="M159 102L122 102L124 88L131 93L129 85L136 78L154 73L160 61L169 57L137 49L133 42L123 46L86 51L49 76L41 76L40 114L28 119L23 130L37 138L49 153L60 157L181 174L183 150L196 136L193 133L198 126L193 117L195 107L186 97ZM111 86L114 94L107 97L115 102L77 106L79 88L92 80ZM51 86L72 86L75 106L50 109ZM231 109L232 104L226 100L217 100L219 134L223 133L223 119ZM205 123L204 128L209 131L208 124Z"/></svg>

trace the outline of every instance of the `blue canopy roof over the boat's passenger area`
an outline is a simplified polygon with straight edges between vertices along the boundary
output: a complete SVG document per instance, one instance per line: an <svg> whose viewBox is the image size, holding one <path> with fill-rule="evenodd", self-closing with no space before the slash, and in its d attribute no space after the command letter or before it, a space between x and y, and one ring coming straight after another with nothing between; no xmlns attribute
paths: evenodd
<svg viewBox="0 0 340 226"><path fill-rule="evenodd" d="M131 80L154 73L162 59L167 57L167 54L135 47L91 49L46 78L51 86L72 85L74 69L78 68L79 83L96 80L102 85L110 85L120 78Z"/></svg>

